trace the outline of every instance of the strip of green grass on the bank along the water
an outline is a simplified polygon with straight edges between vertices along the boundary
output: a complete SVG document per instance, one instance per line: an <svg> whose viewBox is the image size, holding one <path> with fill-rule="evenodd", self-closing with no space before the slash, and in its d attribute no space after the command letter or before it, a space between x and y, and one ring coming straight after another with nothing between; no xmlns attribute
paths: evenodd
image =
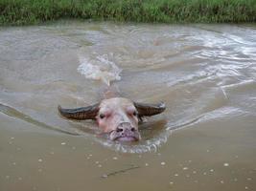
<svg viewBox="0 0 256 191"><path fill-rule="evenodd" d="M0 25L59 18L133 22L256 22L256 0L0 0Z"/></svg>

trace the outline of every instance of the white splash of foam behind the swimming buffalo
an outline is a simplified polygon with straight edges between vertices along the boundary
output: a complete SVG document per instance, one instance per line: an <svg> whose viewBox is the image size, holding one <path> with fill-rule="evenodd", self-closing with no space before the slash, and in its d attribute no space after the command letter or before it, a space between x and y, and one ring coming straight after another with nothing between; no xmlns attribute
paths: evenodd
<svg viewBox="0 0 256 191"><path fill-rule="evenodd" d="M115 80L121 79L122 70L110 61L107 54L96 55L93 58L80 56L78 72L88 79L101 80L108 86Z"/></svg>

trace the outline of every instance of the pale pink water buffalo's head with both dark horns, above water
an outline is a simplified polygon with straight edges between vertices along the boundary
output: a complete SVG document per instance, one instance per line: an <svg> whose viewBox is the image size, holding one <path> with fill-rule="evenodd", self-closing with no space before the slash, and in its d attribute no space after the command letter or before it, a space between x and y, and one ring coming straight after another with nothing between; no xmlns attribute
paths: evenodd
<svg viewBox="0 0 256 191"><path fill-rule="evenodd" d="M98 126L111 140L134 141L141 138L138 122L142 117L160 114L165 108L162 102L146 104L124 97L111 97L97 104L76 109L63 109L58 106L58 111L61 116L71 119L96 119Z"/></svg>

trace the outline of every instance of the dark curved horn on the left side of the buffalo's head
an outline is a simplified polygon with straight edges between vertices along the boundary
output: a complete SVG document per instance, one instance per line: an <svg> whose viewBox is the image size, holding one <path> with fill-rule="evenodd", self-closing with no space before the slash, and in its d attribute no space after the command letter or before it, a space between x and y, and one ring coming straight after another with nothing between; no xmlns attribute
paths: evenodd
<svg viewBox="0 0 256 191"><path fill-rule="evenodd" d="M62 117L85 120L95 119L99 111L99 103L87 107L75 108L75 109L63 109L58 105L58 112Z"/></svg>

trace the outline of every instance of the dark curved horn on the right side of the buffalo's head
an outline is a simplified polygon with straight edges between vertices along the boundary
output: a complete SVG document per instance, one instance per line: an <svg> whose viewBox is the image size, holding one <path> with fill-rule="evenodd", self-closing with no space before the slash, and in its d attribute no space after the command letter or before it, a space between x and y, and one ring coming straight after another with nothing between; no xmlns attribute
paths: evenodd
<svg viewBox="0 0 256 191"><path fill-rule="evenodd" d="M157 114L161 114L166 109L164 102L157 104L134 102L134 106L138 110L139 117L151 117Z"/></svg>

